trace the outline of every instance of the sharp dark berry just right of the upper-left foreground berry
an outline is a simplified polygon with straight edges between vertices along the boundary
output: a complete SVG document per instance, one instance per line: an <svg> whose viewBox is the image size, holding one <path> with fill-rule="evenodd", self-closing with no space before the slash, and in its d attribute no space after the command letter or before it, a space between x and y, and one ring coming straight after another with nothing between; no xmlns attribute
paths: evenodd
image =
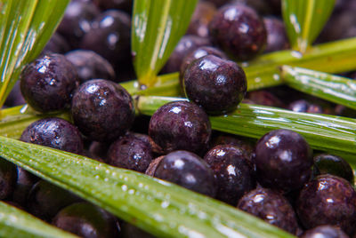
<svg viewBox="0 0 356 238"><path fill-rule="evenodd" d="M134 101L125 89L103 79L79 86L72 100L73 121L88 139L111 142L134 122Z"/></svg>

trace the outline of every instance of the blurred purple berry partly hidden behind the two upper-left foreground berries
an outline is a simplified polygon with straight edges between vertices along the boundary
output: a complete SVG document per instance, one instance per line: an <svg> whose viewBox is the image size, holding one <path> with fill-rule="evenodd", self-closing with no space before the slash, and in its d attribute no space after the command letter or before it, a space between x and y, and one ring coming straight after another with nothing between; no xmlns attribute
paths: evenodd
<svg viewBox="0 0 356 238"><path fill-rule="evenodd" d="M77 68L80 83L90 79L115 81L115 71L109 61L92 51L77 50L68 52L66 58Z"/></svg>

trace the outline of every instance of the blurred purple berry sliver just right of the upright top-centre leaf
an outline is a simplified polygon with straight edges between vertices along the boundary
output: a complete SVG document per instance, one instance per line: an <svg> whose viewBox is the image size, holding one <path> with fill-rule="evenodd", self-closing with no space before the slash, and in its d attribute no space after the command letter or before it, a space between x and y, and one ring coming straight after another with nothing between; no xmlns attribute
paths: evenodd
<svg viewBox="0 0 356 238"><path fill-rule="evenodd" d="M180 70L182 61L190 52L198 47L209 45L208 39L199 36L182 36L177 46L174 48L171 56L164 67L165 73L177 72Z"/></svg>

